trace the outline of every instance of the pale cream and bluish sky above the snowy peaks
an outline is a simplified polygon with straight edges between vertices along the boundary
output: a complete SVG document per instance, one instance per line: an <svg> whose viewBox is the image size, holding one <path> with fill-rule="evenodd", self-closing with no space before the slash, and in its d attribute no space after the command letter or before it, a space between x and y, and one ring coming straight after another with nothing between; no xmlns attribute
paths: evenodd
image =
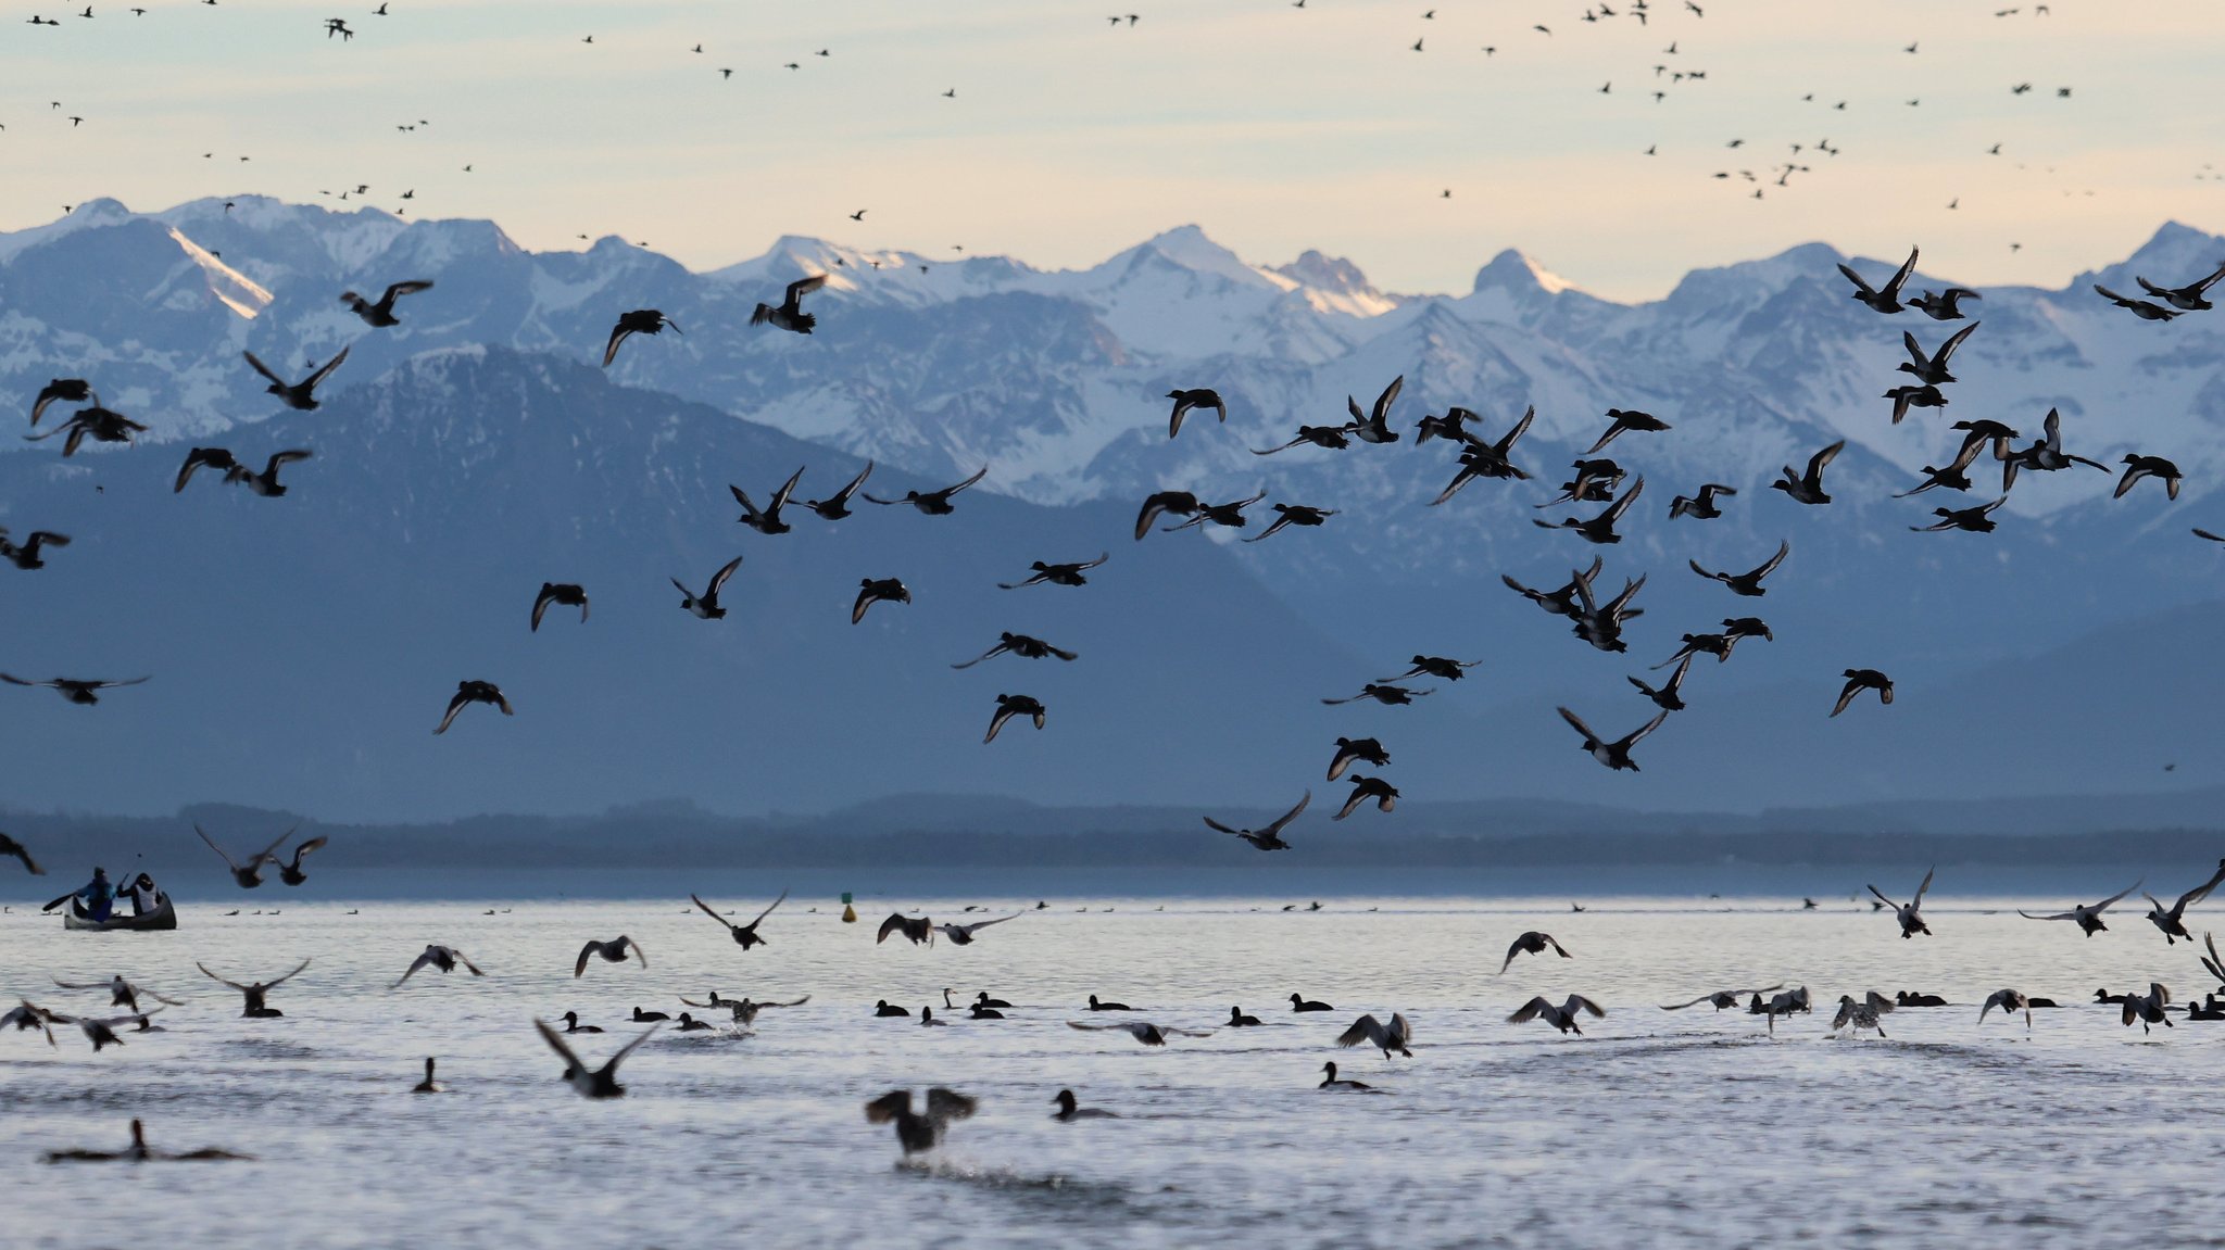
<svg viewBox="0 0 2225 1250"><path fill-rule="evenodd" d="M2163 220L2225 229L2225 7L2201 2L134 2L0 7L0 229L369 185L696 269L781 234L1079 267L1197 222L1393 291L1464 291L1520 247L1611 298L1807 240L2060 285Z"/></svg>

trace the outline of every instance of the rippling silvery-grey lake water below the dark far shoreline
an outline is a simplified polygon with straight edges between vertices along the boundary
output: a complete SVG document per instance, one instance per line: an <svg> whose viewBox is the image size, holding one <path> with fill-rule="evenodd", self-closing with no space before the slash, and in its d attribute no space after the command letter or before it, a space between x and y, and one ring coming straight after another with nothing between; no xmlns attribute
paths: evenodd
<svg viewBox="0 0 2225 1250"><path fill-rule="evenodd" d="M1905 887L1907 883L1902 883ZM721 905L754 912L761 899ZM122 972L187 1005L167 1032L93 1056L0 1034L0 1243L29 1246L2094 1246L2216 1241L2225 1217L2225 1023L2143 1036L2116 1008L2071 1005L2163 981L2212 988L2189 948L2138 910L2083 939L2000 907L1938 899L1938 936L1900 941L1845 899L1736 903L1602 899L1339 899L1275 903L1064 899L975 945L874 945L792 899L741 952L685 899L592 903L349 903L249 899L278 916L182 905L174 934L67 934L0 916L0 992L105 1014L62 979ZM2049 899L2049 910L2067 899ZM937 919L1035 899L906 901ZM2034 899L2023 901L2038 905ZM1086 905L1088 912L1077 912ZM494 907L498 914L485 914ZM1257 907L1257 910L1255 910ZM743 916L748 919L748 916ZM1546 930L1575 959L1520 956ZM2192 927L2201 932L2196 921ZM632 934L650 968L594 963L585 939ZM425 943L487 970L387 985ZM278 1021L238 1019L231 979L314 963L274 992ZM1804 983L1818 1012L1780 1021L1707 1005L1718 988ZM872 1019L941 988L1021 1003L950 1028ZM1976 1003L1996 988L2060 999L2023 1021ZM1831 1003L1922 990L1954 1008L1885 1019L1889 1041L1827 1039ZM679 994L788 999L754 1036L674 1034L625 1063L630 1094L558 1083L534 1016L578 1010L634 1034L639 1003ZM1213 1028L1242 1003L1264 1028L1164 1050L1077 1032L1095 992L1168 1025ZM1335 1003L1293 1016L1288 994ZM1586 1036L1506 1014L1531 994L1609 1008ZM1406 1012L1415 1056L1337 1050L1362 1012ZM712 1012L723 1019L723 1012ZM957 1016L959 1012L950 1012ZM445 1097L412 1097L423 1056ZM1322 1061L1382 1094L1315 1090ZM861 1105L950 1085L981 1112L928 1165L901 1168ZM1055 1123L1059 1088L1124 1119ZM44 1165L58 1145L113 1148L142 1117L158 1148L222 1145L238 1163Z"/></svg>

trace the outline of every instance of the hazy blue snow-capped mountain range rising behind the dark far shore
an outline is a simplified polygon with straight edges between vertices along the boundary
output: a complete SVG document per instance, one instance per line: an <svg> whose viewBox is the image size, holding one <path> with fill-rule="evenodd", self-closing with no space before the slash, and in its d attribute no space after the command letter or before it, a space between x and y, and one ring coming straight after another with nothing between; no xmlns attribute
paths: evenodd
<svg viewBox="0 0 2225 1250"><path fill-rule="evenodd" d="M2218 783L2209 710L2225 692L2207 652L2225 605L2218 554L2187 527L2225 529L2225 323L2140 323L2087 287L2183 282L2221 258L2225 240L2169 225L2063 291L1982 289L1951 405L1891 425L1898 331L1931 347L1954 325L1856 305L1822 245L1615 305L1513 251L1464 296L1402 296L1319 254L1248 265L1195 227L1084 271L783 238L690 274L619 240L530 254L490 222L93 200L0 236L0 389L27 407L49 378L87 376L154 429L67 460L58 443L0 456L0 523L76 538L47 569L0 569L4 667L156 681L98 710L11 692L7 798L140 814L227 798L363 821L663 796L832 810L910 792L1273 805L1342 790L1317 772L1337 734L1382 736L1408 805L1751 812ZM1849 262L1882 276L1898 260ZM759 300L812 271L832 274L810 298L817 334L750 327ZM1911 287L1945 282L1925 274ZM396 329L367 331L336 298L400 278L436 287L400 302ZM634 307L679 334L596 369ZM343 345L314 414L274 414L240 360L307 371ZM1402 443L1250 454L1342 420L1346 396L1366 407L1395 376ZM1193 414L1170 443L1161 396L1195 385L1228 398L1228 423ZM1451 452L1415 447L1411 425L1448 405L1482 414L1486 436L1535 405L1515 460L1537 480L1428 507ZM1609 407L1673 427L1606 452L1646 476L1624 543L1529 525L1595 512L1533 505ZM2187 492L2112 500L2114 478L2092 469L2027 474L2000 532L1909 534L1947 492L1891 496L1951 454L1949 420L2036 436L2049 407L2069 449L2169 456ZM1829 507L1767 489L1836 438L1849 445ZM171 494L187 440L316 458L287 469L287 498L207 476ZM814 496L866 458L874 492L990 472L950 518L866 507L834 527L799 516L779 538L734 525L730 483L763 498L808 465ZM1669 498L1702 480L1738 489L1724 518L1669 520ZM1164 487L1266 489L1337 516L1257 545L1213 529L1133 540L1137 500ZM1760 601L1684 569L1751 567L1780 538L1793 554ZM1028 560L1099 552L1112 560L1088 587L995 589ZM668 578L701 583L734 554L734 616L679 612ZM1497 583L1560 585L1593 554L1604 585L1649 576L1626 656ZM903 576L914 603L852 627L863 576ZM527 634L541 581L587 585L592 618L558 609ZM1642 743L1642 774L1600 770L1553 716L1566 703L1602 732L1635 727L1651 705L1624 678L1680 632L1749 612L1776 641L1702 661L1693 710ZM948 667L999 629L1084 658ZM1484 663L1415 707L1319 705L1415 652ZM1853 665L1891 672L1900 698L1824 718ZM434 738L467 676L501 681L518 716L474 707ZM1019 690L1050 705L1050 727L983 747L992 696Z"/></svg>

